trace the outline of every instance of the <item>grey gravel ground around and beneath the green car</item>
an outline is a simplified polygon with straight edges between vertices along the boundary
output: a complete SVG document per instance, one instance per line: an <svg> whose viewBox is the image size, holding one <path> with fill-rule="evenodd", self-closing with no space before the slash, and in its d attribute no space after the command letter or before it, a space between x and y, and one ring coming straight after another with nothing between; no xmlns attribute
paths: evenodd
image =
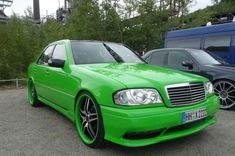
<svg viewBox="0 0 235 156"><path fill-rule="evenodd" d="M0 156L234 156L235 111L220 111L218 123L195 135L141 148L106 143L91 149L75 126L49 107L33 108L25 89L0 91Z"/></svg>

